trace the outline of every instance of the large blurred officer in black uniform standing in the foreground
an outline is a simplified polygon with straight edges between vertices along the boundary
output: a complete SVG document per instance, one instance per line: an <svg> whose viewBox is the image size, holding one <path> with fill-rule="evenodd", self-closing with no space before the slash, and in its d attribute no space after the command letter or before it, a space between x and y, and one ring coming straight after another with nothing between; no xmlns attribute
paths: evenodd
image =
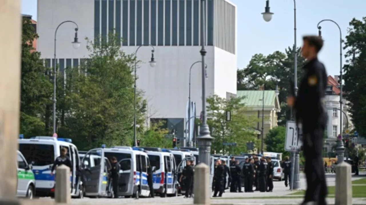
<svg viewBox="0 0 366 205"><path fill-rule="evenodd" d="M296 98L290 96L287 99L287 104L295 108L296 123L302 124L307 182L304 204L326 204L325 197L328 193L322 158L324 129L328 121L323 98L328 75L325 66L317 58L322 47L321 36L303 37L301 52L307 60L304 66L305 75L300 81Z"/></svg>

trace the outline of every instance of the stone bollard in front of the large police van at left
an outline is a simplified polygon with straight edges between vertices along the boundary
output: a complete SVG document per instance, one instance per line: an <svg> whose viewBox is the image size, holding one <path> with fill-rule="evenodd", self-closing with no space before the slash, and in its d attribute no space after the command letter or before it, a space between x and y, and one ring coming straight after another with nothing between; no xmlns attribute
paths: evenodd
<svg viewBox="0 0 366 205"><path fill-rule="evenodd" d="M56 169L55 202L71 203L70 167L66 165L58 166Z"/></svg>

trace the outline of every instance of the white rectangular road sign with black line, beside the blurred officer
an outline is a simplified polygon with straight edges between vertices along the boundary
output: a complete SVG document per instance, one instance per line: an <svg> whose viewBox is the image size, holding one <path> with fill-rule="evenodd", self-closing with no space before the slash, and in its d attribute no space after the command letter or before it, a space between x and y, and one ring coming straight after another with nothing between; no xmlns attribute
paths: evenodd
<svg viewBox="0 0 366 205"><path fill-rule="evenodd" d="M285 150L294 151L299 150L302 147L302 127L299 124L296 127L295 121L287 121L286 124L286 141Z"/></svg>

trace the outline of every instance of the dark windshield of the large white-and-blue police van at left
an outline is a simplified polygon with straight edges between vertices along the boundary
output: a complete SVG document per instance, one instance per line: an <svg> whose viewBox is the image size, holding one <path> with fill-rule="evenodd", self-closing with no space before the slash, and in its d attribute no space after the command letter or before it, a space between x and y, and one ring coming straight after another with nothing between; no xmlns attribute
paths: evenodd
<svg viewBox="0 0 366 205"><path fill-rule="evenodd" d="M33 166L52 165L55 162L55 148L52 144L19 144L19 151L22 152L28 163Z"/></svg>

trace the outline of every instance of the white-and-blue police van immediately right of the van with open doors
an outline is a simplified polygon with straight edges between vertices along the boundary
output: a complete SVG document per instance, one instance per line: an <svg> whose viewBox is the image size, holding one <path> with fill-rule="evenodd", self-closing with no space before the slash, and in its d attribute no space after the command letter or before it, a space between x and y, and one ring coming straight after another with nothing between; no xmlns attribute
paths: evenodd
<svg viewBox="0 0 366 205"><path fill-rule="evenodd" d="M144 148L145 149L145 148ZM153 173L154 192L161 197L178 195L178 177L176 175L176 162L170 150L161 148L146 148L149 151L150 166Z"/></svg>

